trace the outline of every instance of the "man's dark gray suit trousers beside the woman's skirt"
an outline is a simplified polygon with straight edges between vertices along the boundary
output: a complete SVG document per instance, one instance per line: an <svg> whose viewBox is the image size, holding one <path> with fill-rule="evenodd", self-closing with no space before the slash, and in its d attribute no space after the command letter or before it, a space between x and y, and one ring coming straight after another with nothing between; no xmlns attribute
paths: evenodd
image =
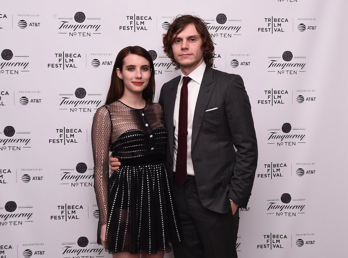
<svg viewBox="0 0 348 258"><path fill-rule="evenodd" d="M183 241L173 242L175 258L237 258L238 210L226 214L205 208L199 199L194 176L173 189L183 231ZM226 196L226 198L228 198Z"/></svg>

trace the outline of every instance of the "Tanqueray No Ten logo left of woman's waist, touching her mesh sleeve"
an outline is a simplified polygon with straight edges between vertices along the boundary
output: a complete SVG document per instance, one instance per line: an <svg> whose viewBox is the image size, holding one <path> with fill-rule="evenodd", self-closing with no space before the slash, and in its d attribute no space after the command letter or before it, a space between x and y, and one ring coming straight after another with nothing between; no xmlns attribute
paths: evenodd
<svg viewBox="0 0 348 258"><path fill-rule="evenodd" d="M75 168L61 168L61 185L71 187L92 187L93 168L87 168L86 163L80 162ZM85 174L89 170L92 175Z"/></svg>

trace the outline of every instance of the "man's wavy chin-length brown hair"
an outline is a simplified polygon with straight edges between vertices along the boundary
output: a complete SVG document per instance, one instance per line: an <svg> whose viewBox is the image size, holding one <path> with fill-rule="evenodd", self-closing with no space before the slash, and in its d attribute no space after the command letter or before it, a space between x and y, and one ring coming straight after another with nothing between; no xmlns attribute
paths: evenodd
<svg viewBox="0 0 348 258"><path fill-rule="evenodd" d="M202 38L203 43L201 47L203 50L204 62L211 67L213 66L214 43L205 22L196 16L182 15L176 16L173 23L169 26L167 33L163 34L163 51L172 60L172 64L176 66L175 70L180 69L180 65L174 58L172 44L176 35L182 32L187 25L191 23L195 24L196 30Z"/></svg>

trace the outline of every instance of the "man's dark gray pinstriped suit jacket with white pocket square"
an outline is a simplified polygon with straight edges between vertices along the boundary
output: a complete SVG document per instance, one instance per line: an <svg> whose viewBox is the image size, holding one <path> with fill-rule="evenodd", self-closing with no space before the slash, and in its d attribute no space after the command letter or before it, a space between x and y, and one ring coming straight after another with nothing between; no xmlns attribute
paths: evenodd
<svg viewBox="0 0 348 258"><path fill-rule="evenodd" d="M165 83L159 97L168 131L166 162L171 176L173 113L179 81L180 76ZM246 207L258 150L249 98L239 75L206 67L193 118L191 158L204 207L227 213L231 210L229 199Z"/></svg>

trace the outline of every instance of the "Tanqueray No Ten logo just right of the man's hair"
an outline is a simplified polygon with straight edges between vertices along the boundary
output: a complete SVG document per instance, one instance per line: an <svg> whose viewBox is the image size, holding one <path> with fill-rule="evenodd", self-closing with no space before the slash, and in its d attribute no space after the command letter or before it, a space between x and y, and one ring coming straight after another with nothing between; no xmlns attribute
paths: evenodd
<svg viewBox="0 0 348 258"><path fill-rule="evenodd" d="M216 15L215 19L203 19L212 38L232 38L242 35L241 19L227 19L225 14Z"/></svg>

